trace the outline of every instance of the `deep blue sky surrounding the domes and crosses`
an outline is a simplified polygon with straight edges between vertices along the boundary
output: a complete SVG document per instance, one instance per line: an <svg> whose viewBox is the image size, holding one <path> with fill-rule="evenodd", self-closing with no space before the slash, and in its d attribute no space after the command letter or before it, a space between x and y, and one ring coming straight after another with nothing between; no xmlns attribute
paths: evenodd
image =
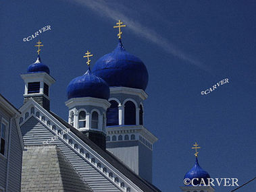
<svg viewBox="0 0 256 192"><path fill-rule="evenodd" d="M68 117L66 86L118 44L113 25L127 25L122 40L149 71L145 127L159 138L153 148L153 184L179 191L195 162L190 148L201 146L199 163L211 177L255 177L256 109L255 1L2 1L0 6L0 88L16 107L23 102L20 73L36 60L57 82L51 110ZM23 38L51 30L23 42ZM229 83L207 95L222 79ZM237 191L253 191L256 182ZM215 187L231 191L232 187Z"/></svg>

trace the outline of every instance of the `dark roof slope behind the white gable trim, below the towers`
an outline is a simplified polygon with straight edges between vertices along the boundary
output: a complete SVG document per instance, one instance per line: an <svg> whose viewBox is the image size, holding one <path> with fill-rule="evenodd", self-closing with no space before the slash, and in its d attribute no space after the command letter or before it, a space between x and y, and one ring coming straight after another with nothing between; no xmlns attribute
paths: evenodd
<svg viewBox="0 0 256 192"><path fill-rule="evenodd" d="M72 125L70 125L68 122L61 119L61 117L57 116L55 113L49 111L55 119L57 119L61 124L63 124L66 128L70 129L72 133L74 133L77 137L79 137L84 143L86 143L88 146L90 146L95 152L97 152L100 156L102 156L107 162L109 162L112 166L117 168L124 176L128 177L130 181L132 181L135 185L137 185L140 189L143 191L158 191L161 192L157 187L152 185L151 183L148 183L144 179L138 176L138 174L134 173L128 166L126 166L124 163L120 162L118 158L113 156L110 152L107 152L107 150L102 150L97 144L95 144L93 141L88 139L84 134L82 134L80 131L78 131L76 128L74 128Z"/></svg>

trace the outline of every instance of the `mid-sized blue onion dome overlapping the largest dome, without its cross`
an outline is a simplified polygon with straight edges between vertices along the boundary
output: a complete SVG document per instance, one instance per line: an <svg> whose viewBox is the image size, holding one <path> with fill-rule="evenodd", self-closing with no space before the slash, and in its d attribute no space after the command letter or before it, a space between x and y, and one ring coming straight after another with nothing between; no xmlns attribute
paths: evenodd
<svg viewBox="0 0 256 192"><path fill-rule="evenodd" d="M91 73L89 68L84 75L72 79L67 88L68 99L80 97L93 97L109 99L109 86L107 83Z"/></svg>

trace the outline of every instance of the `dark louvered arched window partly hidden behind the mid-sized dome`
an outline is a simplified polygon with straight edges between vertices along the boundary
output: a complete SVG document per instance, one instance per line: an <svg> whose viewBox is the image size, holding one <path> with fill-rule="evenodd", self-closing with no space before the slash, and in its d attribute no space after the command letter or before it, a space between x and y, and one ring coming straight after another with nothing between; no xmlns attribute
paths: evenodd
<svg viewBox="0 0 256 192"><path fill-rule="evenodd" d="M109 101L111 106L107 108L107 126L119 125L118 102L116 100Z"/></svg>

